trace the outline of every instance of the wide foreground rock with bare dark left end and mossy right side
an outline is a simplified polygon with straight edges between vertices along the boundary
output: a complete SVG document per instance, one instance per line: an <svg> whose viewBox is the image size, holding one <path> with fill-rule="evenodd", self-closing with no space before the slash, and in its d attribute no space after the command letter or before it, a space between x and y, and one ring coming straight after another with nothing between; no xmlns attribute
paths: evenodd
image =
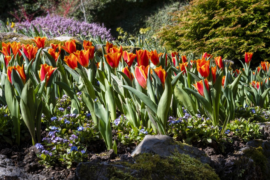
<svg viewBox="0 0 270 180"><path fill-rule="evenodd" d="M166 157L144 153L134 156L132 161L119 161L110 164L104 162L101 164L80 163L76 169L76 178L79 180L87 177L114 180L219 179L208 164L203 164L195 158L180 153Z"/></svg>

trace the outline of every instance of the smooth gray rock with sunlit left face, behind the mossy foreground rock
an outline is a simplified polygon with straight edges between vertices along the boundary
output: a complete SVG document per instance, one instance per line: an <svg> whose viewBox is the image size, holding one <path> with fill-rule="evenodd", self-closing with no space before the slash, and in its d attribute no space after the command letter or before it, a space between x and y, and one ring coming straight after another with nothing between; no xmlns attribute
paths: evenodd
<svg viewBox="0 0 270 180"><path fill-rule="evenodd" d="M211 164L210 158L204 151L193 146L174 141L166 135L146 135L141 143L134 149L131 156L140 153L154 153L160 156L170 156L174 152L187 154L190 157L200 160L202 163Z"/></svg>

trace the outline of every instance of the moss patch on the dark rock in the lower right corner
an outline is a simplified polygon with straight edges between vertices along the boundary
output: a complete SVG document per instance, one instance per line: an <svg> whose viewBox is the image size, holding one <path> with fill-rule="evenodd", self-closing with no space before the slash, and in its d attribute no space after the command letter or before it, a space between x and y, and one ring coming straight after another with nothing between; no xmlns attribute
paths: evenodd
<svg viewBox="0 0 270 180"><path fill-rule="evenodd" d="M266 169L266 164L268 163L267 157L262 152L262 147L258 148L248 148L243 151L245 156L252 159L255 165L258 165L262 172Z"/></svg>

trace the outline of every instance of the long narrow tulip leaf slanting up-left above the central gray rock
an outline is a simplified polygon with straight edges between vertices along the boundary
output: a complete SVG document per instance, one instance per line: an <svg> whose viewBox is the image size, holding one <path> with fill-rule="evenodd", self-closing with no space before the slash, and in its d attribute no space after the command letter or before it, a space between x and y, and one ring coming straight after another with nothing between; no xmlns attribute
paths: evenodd
<svg viewBox="0 0 270 180"><path fill-rule="evenodd" d="M147 95L130 86L123 85L123 87L133 92L141 101L144 102L146 106L148 106L155 114L157 114L157 105Z"/></svg>

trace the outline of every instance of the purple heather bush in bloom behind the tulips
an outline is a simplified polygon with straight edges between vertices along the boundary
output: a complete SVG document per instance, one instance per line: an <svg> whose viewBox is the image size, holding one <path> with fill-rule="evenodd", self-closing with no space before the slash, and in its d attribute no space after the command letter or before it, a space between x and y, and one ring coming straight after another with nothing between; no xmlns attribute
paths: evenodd
<svg viewBox="0 0 270 180"><path fill-rule="evenodd" d="M92 36L101 36L102 39L105 36L105 39L109 41L113 40L110 29L108 30L103 24L101 26L97 23L80 22L74 18L66 18L59 15L48 14L47 16L38 17L31 22L24 21L21 23L24 26L21 27L31 28L31 24L35 26L40 25L48 35L49 32L52 32L54 37L67 33L70 36L77 36L77 34L87 36L90 34Z"/></svg>

